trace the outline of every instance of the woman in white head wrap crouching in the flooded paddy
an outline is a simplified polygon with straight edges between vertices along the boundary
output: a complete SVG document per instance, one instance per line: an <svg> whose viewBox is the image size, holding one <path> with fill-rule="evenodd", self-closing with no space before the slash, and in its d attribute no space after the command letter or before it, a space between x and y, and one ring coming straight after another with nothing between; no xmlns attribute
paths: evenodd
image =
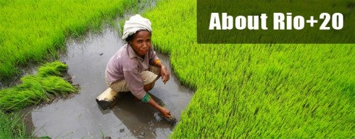
<svg viewBox="0 0 355 139"><path fill-rule="evenodd" d="M147 93L160 76L164 84L170 79L168 68L155 54L151 32L151 21L138 14L124 23L122 39L127 43L107 63L106 81L114 91L131 91L133 96L148 102L163 116L171 117L169 110L158 105Z"/></svg>

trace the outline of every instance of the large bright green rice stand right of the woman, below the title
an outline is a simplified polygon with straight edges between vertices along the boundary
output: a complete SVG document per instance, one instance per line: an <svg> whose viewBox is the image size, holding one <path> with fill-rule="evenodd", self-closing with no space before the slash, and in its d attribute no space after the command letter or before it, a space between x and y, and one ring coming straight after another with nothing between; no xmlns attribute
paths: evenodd
<svg viewBox="0 0 355 139"><path fill-rule="evenodd" d="M144 16L197 89L171 138L355 138L354 44L197 44L194 0Z"/></svg>

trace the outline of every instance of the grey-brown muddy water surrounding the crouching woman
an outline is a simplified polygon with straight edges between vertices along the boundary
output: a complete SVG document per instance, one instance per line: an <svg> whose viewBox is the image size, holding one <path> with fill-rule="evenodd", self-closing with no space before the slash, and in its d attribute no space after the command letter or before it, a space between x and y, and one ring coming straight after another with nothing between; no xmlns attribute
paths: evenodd
<svg viewBox="0 0 355 139"><path fill-rule="evenodd" d="M109 28L102 34L89 34L84 40L68 40L62 61L69 66L73 84L82 87L80 94L33 106L26 116L28 130L37 137L51 138L168 138L173 126L153 107L133 101L132 95L124 96L113 109L105 111L95 101L107 89L104 82L106 64L122 45L124 42L118 33ZM158 54L158 57L169 67L168 56ZM170 67L169 70L171 73ZM180 119L193 91L182 87L171 74L167 84L158 80L150 93Z"/></svg>

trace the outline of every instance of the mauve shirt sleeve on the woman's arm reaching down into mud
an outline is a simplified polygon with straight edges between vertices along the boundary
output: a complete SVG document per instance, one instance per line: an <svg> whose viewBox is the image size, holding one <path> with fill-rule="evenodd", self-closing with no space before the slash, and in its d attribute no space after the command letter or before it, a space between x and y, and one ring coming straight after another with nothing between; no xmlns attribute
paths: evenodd
<svg viewBox="0 0 355 139"><path fill-rule="evenodd" d="M136 96L138 99L142 99L146 96L146 91L144 91L143 88L143 79L138 72L138 69L124 71L124 79L126 79L126 82L129 85L129 90L133 96Z"/></svg>

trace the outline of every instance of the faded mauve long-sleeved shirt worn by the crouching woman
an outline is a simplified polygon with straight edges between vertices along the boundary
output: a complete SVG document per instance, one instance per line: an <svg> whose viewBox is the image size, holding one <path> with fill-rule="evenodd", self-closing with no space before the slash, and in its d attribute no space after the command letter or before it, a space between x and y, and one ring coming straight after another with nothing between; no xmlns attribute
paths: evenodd
<svg viewBox="0 0 355 139"><path fill-rule="evenodd" d="M152 65L153 61L157 59L158 56L153 46L142 58L136 55L131 45L126 44L107 63L105 72L107 83L111 84L125 79L131 93L138 99L142 99L146 95L146 91L143 89L141 72L148 70L149 64Z"/></svg>

